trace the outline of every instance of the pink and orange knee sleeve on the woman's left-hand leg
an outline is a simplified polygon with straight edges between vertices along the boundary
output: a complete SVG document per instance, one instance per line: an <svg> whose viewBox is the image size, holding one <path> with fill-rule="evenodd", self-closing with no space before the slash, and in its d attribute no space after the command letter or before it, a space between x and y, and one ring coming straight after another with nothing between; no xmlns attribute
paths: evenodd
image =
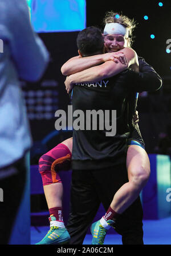
<svg viewBox="0 0 171 256"><path fill-rule="evenodd" d="M70 170L70 167L71 152L66 145L60 143L39 159L39 172L43 186L56 182L62 183L58 171Z"/></svg>

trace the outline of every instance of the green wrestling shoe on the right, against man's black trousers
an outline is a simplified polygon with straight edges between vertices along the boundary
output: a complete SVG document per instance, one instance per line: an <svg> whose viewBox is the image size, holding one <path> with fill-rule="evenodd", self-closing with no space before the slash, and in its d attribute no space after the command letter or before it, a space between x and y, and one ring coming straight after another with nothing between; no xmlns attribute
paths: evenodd
<svg viewBox="0 0 171 256"><path fill-rule="evenodd" d="M108 225L112 225L115 223L113 220L107 220ZM91 234L93 236L91 245L103 245L104 243L104 238L107 233L107 229L105 229L101 223L100 220L97 222L93 223L91 225Z"/></svg>

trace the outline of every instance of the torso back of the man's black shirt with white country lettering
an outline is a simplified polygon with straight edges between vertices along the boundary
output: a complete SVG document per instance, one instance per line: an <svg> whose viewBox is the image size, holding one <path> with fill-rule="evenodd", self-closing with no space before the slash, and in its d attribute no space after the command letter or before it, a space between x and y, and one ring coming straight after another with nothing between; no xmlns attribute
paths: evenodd
<svg viewBox="0 0 171 256"><path fill-rule="evenodd" d="M127 96L127 74L124 72L100 82L74 86L73 114L79 109L82 118L73 117L72 169L99 169L125 161L129 136ZM94 112L91 121L86 118L88 111ZM98 111L101 116L96 121Z"/></svg>

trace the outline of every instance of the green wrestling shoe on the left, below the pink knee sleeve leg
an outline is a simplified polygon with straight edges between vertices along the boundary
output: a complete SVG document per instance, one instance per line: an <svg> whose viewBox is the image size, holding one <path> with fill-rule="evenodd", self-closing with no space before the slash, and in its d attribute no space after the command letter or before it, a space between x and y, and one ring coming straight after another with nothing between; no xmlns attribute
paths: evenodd
<svg viewBox="0 0 171 256"><path fill-rule="evenodd" d="M55 217L52 218L56 220ZM70 235L66 227L51 226L45 237L36 245L66 245L69 241Z"/></svg>

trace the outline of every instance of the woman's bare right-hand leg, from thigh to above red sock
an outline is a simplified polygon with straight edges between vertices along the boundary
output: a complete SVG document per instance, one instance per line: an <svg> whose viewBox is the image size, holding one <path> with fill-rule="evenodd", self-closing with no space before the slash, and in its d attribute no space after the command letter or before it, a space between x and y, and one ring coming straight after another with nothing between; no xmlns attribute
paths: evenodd
<svg viewBox="0 0 171 256"><path fill-rule="evenodd" d="M150 162L146 151L138 145L130 145L127 151L128 180L113 197L111 208L123 213L139 196L150 175Z"/></svg>

